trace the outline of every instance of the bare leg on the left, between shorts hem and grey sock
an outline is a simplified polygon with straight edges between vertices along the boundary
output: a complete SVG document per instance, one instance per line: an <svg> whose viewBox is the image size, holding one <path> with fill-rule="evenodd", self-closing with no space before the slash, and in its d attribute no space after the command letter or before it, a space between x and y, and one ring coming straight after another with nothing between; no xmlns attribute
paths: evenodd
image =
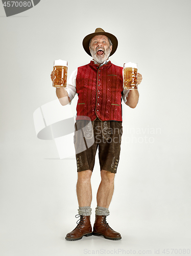
<svg viewBox="0 0 191 256"><path fill-rule="evenodd" d="M83 170L78 173L78 181L76 185L78 204L80 207L90 206L92 200L91 191L91 170Z"/></svg>

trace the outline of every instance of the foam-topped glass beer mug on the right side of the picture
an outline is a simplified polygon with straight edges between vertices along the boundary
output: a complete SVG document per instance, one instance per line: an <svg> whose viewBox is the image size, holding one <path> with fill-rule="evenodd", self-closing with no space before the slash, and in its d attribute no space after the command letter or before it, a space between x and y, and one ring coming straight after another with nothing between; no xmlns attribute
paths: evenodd
<svg viewBox="0 0 191 256"><path fill-rule="evenodd" d="M124 64L124 89L137 89L137 63Z"/></svg>

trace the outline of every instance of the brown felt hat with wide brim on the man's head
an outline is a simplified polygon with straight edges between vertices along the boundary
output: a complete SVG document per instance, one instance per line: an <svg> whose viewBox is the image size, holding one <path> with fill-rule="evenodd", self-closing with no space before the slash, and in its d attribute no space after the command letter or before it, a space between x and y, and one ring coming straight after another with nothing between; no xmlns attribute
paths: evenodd
<svg viewBox="0 0 191 256"><path fill-rule="evenodd" d="M82 42L82 45L83 45L84 50L87 52L87 54L89 54L89 55L91 56L91 53L90 53L90 51L89 51L89 41L90 41L90 39L91 39L93 36L96 36L96 35L105 35L105 36L109 37L109 39L111 40L111 42L112 42L112 44L113 44L113 46L112 46L112 51L111 51L111 53L110 53L110 56L113 55L113 53L116 51L117 45L118 45L117 38L116 38L114 35L105 32L105 31L104 31L103 29L101 29L101 28L97 28L94 33L91 33L91 34L86 35L86 36L84 37L83 42Z"/></svg>

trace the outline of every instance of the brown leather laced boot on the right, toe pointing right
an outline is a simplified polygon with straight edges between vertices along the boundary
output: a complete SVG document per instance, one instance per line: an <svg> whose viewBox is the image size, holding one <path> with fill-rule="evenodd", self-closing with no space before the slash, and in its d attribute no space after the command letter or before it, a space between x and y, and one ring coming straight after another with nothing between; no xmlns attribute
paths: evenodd
<svg viewBox="0 0 191 256"><path fill-rule="evenodd" d="M106 216L96 215L96 220L93 225L94 236L104 236L105 239L109 240L120 240L122 239L121 234L114 231L106 222Z"/></svg>

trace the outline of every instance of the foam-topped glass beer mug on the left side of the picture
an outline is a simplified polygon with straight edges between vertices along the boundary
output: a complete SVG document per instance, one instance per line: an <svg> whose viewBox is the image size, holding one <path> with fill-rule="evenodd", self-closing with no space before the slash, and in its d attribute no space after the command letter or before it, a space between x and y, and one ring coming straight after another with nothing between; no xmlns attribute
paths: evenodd
<svg viewBox="0 0 191 256"><path fill-rule="evenodd" d="M55 60L53 67L53 86L56 88L65 88L67 84L67 61Z"/></svg>

